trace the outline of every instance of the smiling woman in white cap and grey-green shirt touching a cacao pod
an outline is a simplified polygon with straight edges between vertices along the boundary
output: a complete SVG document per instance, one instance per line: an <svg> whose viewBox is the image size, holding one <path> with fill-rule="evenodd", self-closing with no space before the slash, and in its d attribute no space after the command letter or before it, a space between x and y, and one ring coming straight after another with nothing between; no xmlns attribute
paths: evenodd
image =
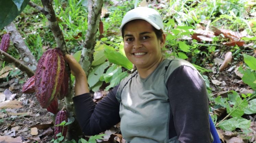
<svg viewBox="0 0 256 143"><path fill-rule="evenodd" d="M120 29L126 57L137 72L97 106L82 67L65 55L75 76L73 101L83 132L98 134L121 122L122 135L131 143L210 143L205 82L190 63L162 57L166 36L159 13L137 7L125 14Z"/></svg>

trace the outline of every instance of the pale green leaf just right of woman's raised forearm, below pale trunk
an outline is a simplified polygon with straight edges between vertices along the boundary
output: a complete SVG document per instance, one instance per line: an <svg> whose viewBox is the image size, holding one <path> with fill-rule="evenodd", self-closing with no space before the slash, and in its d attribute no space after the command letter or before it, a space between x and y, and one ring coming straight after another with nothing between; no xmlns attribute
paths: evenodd
<svg viewBox="0 0 256 143"><path fill-rule="evenodd" d="M100 79L100 76L104 73L104 70L109 66L109 62L105 62L101 65L98 65L90 71L88 75L88 84L92 88Z"/></svg>

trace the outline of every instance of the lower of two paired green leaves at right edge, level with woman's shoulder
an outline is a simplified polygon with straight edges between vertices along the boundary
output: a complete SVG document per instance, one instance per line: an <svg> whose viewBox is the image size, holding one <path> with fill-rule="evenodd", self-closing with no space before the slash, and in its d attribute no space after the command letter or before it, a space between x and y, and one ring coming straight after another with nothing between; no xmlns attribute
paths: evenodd
<svg viewBox="0 0 256 143"><path fill-rule="evenodd" d="M256 80L256 72L251 72L251 70L246 69L244 71L244 75L242 77L242 80L244 83L251 86L253 90L256 90L256 83L254 81Z"/></svg>

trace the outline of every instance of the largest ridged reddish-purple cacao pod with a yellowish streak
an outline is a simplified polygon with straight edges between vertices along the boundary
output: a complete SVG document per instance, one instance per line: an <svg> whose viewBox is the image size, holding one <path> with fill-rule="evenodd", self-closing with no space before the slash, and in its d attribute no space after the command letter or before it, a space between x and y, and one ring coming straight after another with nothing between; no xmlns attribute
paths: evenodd
<svg viewBox="0 0 256 143"><path fill-rule="evenodd" d="M64 64L64 57L60 49L49 49L39 59L35 91L42 108L47 108L60 92L65 72Z"/></svg>

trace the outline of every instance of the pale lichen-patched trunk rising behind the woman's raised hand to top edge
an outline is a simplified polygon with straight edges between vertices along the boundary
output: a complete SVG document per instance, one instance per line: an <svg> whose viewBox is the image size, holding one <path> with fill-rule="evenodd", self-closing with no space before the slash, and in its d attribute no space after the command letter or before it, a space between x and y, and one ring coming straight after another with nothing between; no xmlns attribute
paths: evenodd
<svg viewBox="0 0 256 143"><path fill-rule="evenodd" d="M96 44L96 32L99 26L99 19L103 0L88 0L88 29L86 33L85 43L81 54L80 64L88 76L89 68L93 62L94 46Z"/></svg>

